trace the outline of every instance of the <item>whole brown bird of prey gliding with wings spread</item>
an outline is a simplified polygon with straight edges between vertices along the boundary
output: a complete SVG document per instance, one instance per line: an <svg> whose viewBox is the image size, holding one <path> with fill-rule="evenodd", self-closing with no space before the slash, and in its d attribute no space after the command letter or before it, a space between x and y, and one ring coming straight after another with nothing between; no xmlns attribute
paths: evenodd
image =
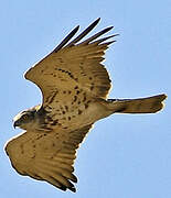
<svg viewBox="0 0 171 198"><path fill-rule="evenodd" d="M99 19L73 38L79 28L76 26L25 73L24 77L40 87L43 101L14 117L13 125L24 132L6 145L19 174L45 180L61 190L76 191L76 150L97 120L113 113L154 113L162 109L167 98L107 98L110 79L101 62L116 34L99 36L113 26L82 41L98 22Z"/></svg>

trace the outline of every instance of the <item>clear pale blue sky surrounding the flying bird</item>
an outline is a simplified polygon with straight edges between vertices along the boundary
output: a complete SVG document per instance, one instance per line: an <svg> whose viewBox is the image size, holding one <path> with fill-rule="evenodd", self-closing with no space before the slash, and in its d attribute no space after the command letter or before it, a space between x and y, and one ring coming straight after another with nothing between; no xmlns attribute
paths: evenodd
<svg viewBox="0 0 171 198"><path fill-rule="evenodd" d="M3 147L21 132L12 118L41 102L23 73L77 24L101 18L95 33L114 25L117 43L106 54L110 98L165 92L157 114L114 114L98 121L75 162L77 193L20 176ZM2 198L170 198L171 197L171 1L6 0L0 7L0 197Z"/></svg>

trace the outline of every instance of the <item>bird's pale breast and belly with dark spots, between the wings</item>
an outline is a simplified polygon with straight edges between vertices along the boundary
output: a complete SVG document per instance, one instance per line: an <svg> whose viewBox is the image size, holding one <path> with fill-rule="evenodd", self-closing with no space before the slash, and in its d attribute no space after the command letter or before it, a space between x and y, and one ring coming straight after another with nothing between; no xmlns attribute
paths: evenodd
<svg viewBox="0 0 171 198"><path fill-rule="evenodd" d="M47 129L77 129L106 117L106 110L98 101L89 99L73 105L65 103L46 113L44 127Z"/></svg>

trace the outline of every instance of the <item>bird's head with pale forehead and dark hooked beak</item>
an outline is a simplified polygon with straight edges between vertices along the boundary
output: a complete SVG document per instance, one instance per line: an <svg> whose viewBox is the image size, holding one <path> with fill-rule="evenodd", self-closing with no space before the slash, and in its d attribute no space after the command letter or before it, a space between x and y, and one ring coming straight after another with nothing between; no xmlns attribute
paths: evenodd
<svg viewBox="0 0 171 198"><path fill-rule="evenodd" d="M13 127L14 128L21 128L23 130L33 129L36 123L36 107L24 110L20 113L18 113L13 118Z"/></svg>

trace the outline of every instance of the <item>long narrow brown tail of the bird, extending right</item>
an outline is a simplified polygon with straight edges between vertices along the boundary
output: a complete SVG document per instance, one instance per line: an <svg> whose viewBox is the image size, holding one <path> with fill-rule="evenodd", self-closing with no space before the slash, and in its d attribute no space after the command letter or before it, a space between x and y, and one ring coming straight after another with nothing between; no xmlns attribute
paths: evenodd
<svg viewBox="0 0 171 198"><path fill-rule="evenodd" d="M163 108L165 95L139 99L109 99L108 107L119 113L154 113Z"/></svg>

